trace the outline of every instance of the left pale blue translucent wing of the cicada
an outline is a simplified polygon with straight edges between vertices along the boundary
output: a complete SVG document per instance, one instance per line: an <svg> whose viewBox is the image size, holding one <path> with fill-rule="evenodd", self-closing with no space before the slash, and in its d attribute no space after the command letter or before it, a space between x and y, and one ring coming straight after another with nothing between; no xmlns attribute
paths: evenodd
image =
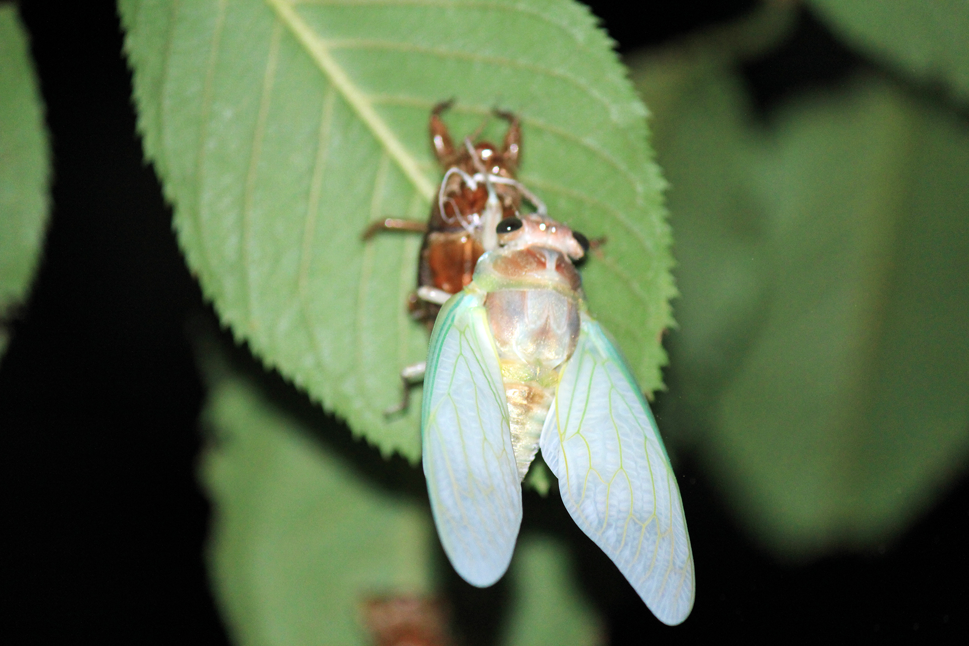
<svg viewBox="0 0 969 646"><path fill-rule="evenodd" d="M458 294L438 315L421 427L424 476L444 551L465 581L489 586L512 560L521 485L498 350L480 296Z"/></svg>

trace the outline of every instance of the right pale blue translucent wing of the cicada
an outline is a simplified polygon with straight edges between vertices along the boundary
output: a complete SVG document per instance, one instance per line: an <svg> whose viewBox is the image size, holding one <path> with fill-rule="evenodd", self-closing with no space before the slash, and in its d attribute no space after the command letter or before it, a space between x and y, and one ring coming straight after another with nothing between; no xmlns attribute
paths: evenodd
<svg viewBox="0 0 969 646"><path fill-rule="evenodd" d="M686 619L695 579L679 488L639 385L595 321L583 317L540 446L576 524L661 622Z"/></svg>

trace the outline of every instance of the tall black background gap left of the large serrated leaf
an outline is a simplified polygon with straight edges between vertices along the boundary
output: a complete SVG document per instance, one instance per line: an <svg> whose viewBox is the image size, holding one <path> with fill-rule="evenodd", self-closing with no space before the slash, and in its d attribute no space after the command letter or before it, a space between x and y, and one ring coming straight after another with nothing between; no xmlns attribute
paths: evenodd
<svg viewBox="0 0 969 646"><path fill-rule="evenodd" d="M0 369L8 638L226 644L204 578L203 390L183 331L201 296L141 161L114 4L21 15L53 210Z"/></svg>

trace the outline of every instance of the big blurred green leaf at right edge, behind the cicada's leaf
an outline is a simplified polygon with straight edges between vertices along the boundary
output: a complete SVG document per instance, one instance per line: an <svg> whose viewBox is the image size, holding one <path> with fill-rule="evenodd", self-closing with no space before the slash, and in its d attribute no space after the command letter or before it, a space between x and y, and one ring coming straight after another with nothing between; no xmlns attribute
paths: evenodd
<svg viewBox="0 0 969 646"><path fill-rule="evenodd" d="M871 545L969 456L969 128L860 79L778 116L766 323L710 450L793 555Z"/></svg>

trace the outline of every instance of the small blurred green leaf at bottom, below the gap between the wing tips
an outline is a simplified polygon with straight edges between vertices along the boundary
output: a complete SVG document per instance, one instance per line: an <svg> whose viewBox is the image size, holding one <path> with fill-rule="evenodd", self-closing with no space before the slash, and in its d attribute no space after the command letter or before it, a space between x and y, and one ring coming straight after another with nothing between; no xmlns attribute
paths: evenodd
<svg viewBox="0 0 969 646"><path fill-rule="evenodd" d="M606 642L602 619L568 568L570 554L551 538L518 539L511 575L514 600L506 646L595 646Z"/></svg>

